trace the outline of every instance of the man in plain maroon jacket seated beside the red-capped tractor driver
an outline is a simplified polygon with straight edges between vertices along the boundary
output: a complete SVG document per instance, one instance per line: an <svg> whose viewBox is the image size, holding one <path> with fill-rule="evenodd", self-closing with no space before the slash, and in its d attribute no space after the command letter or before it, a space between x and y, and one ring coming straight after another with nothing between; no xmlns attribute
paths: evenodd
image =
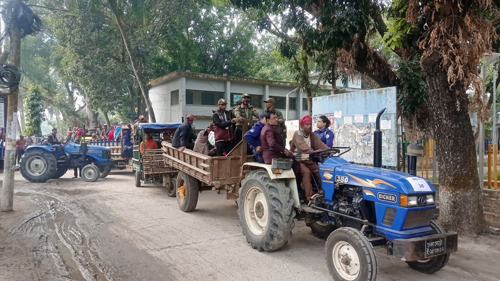
<svg viewBox="0 0 500 281"><path fill-rule="evenodd" d="M277 124L278 117L276 113L271 113L267 123L262 128L262 131L260 131L260 146L262 147L262 156L266 164L270 164L272 158L282 158L279 153L283 153L288 157L293 155L281 143L282 138L276 131Z"/></svg>

